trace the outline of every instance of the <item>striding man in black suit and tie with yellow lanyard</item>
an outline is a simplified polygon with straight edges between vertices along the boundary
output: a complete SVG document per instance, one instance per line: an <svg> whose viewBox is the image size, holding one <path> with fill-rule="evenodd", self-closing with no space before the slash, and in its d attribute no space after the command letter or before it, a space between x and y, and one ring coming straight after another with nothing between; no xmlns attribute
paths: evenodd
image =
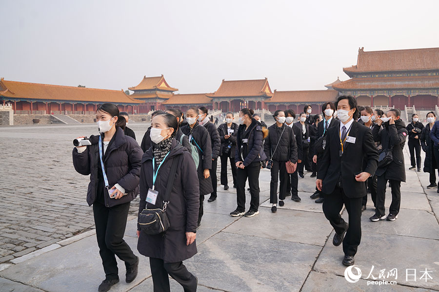
<svg viewBox="0 0 439 292"><path fill-rule="evenodd" d="M337 114L340 127L328 129L326 146L319 159L317 188L325 194L323 213L334 227L332 243L343 243L343 265L352 266L361 241L361 201L366 194L365 181L375 173L378 151L369 128L359 124L357 101L339 96ZM367 161L363 171L363 159ZM340 211L343 204L349 214L345 222Z"/></svg>

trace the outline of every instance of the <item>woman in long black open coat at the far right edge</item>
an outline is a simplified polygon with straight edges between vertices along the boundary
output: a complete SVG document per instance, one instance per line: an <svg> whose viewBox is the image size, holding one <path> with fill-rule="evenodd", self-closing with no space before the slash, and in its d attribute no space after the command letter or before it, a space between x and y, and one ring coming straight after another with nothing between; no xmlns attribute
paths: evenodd
<svg viewBox="0 0 439 292"><path fill-rule="evenodd" d="M424 160L424 172L430 173L430 184L427 188L435 188L438 186L436 183L436 169L438 165L436 164L436 159L433 151L433 141L430 138L430 130L433 128L436 121L436 114L433 111L427 113L428 124L422 129L420 143L422 150L425 152ZM438 170L439 171L439 170ZM439 173L439 172L438 172Z"/></svg>

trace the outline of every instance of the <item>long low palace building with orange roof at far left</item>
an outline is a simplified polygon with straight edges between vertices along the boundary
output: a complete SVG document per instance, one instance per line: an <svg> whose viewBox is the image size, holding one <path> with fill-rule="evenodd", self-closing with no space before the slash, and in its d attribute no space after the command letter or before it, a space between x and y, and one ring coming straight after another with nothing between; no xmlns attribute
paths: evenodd
<svg viewBox="0 0 439 292"><path fill-rule="evenodd" d="M0 101L16 114L95 114L100 104L113 103L120 111L138 113L138 101L123 90L27 83L0 79Z"/></svg>

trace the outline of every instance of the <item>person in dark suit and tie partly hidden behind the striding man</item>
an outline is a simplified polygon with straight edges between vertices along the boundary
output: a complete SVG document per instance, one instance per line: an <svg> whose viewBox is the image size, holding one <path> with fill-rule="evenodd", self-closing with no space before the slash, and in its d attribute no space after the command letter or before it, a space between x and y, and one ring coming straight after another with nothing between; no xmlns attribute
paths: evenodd
<svg viewBox="0 0 439 292"><path fill-rule="evenodd" d="M321 107L321 112L323 113L324 119L319 123L319 125L317 125L317 136L318 137L322 137L323 135L326 135L326 131L329 128L332 128L332 127L337 128L340 126L340 121L333 117L333 114L335 112L335 105L333 102L329 101L329 102L324 103ZM314 148L313 162L318 165L317 169L319 169L319 158L320 158L321 154L317 153L316 150L317 149ZM312 194L310 196L310 198L317 199L315 201L316 203L323 203L324 194L321 193L316 187L316 192L314 194Z"/></svg>

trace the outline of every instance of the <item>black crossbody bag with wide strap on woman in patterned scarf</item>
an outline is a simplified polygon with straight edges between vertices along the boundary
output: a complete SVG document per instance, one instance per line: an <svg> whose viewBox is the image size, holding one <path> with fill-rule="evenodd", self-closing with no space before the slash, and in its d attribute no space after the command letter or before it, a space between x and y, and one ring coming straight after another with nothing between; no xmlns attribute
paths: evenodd
<svg viewBox="0 0 439 292"><path fill-rule="evenodd" d="M179 158L174 157L171 171L169 172L168 184L166 185L166 192L163 197L163 209L143 209L142 212L139 213L137 222L139 223L140 230L148 235L164 233L170 226L169 219L166 215L166 205L169 204L169 197L171 196L178 163Z"/></svg>

